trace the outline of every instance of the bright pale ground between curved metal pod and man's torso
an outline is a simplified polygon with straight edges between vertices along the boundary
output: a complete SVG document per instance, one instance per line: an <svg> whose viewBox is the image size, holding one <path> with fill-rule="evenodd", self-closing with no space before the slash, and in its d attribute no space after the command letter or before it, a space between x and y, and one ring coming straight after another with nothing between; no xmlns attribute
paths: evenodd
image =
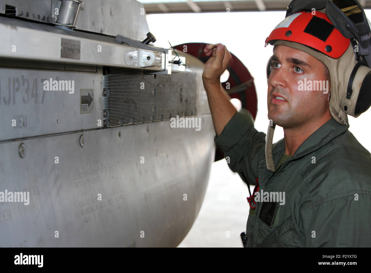
<svg viewBox="0 0 371 273"><path fill-rule="evenodd" d="M250 186L253 192L254 186ZM249 190L226 160L211 166L209 185L200 213L178 247L242 247L240 233L246 231Z"/></svg>

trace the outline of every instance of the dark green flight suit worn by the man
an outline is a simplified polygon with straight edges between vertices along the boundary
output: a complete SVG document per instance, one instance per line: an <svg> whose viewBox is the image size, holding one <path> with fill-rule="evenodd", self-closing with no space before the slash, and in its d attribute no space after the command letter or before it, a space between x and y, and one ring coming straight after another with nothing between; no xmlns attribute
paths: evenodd
<svg viewBox="0 0 371 273"><path fill-rule="evenodd" d="M248 111L236 112L214 137L245 183L258 182L259 192L285 192L272 227L259 208L273 202L250 208L246 247L371 247L371 155L349 125L331 118L273 173L266 168L266 134L253 122ZM275 166L284 152L283 139L273 144Z"/></svg>

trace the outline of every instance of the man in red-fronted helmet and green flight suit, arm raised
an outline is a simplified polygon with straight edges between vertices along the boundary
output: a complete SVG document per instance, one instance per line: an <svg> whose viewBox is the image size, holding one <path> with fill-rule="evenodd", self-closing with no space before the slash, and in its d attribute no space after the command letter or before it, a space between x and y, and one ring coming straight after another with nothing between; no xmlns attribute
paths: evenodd
<svg viewBox="0 0 371 273"><path fill-rule="evenodd" d="M371 155L348 131L347 118L370 107L354 96L366 94L371 69L354 68L350 39L322 12L286 17L266 43L274 45L267 66L267 141L221 88L229 51L221 44L204 49L211 56L203 83L216 144L229 156L230 169L256 185L244 246L371 247ZM353 100L346 99L349 82ZM276 124L284 138L272 147Z"/></svg>

